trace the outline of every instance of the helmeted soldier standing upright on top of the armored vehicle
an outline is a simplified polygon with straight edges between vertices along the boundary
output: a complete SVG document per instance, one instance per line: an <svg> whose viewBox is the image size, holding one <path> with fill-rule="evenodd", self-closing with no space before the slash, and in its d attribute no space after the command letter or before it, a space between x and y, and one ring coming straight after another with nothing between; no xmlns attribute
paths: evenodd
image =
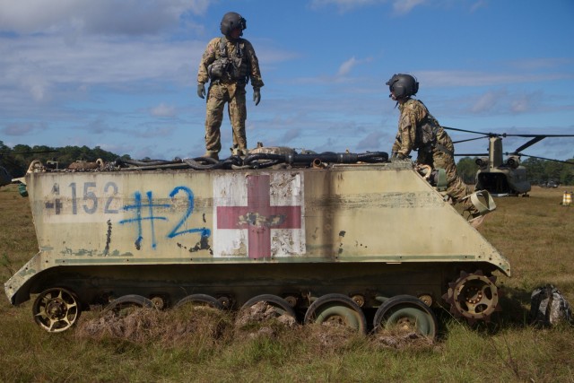
<svg viewBox="0 0 574 383"><path fill-rule="evenodd" d="M219 159L222 149L221 132L223 108L228 104L235 155L247 154L245 120L247 107L245 86L251 80L253 100L258 105L264 85L255 50L247 39L241 39L247 28L239 13L223 15L221 38L212 39L205 48L197 73L197 95L205 98L205 83L211 80L207 91L205 118L205 157Z"/></svg>

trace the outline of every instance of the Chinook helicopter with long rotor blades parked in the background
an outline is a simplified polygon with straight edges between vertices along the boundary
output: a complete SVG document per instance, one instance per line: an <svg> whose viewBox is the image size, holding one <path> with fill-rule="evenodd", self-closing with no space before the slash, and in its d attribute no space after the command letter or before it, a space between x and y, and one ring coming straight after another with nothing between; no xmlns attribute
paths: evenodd
<svg viewBox="0 0 574 383"><path fill-rule="evenodd" d="M488 137L488 153L457 153L457 157L477 157L476 164L479 170L476 172L476 190L485 189L491 196L526 196L530 191L530 181L526 178L526 168L520 165L520 157L532 157L545 161L556 161L574 165L573 162L553 160L544 157L525 154L526 148L544 140L546 137L574 137L574 135L508 135L506 133L484 133L472 130L457 129L443 126L445 129L457 132L473 133L480 135L466 140L455 141L454 144L468 141L481 140ZM525 137L530 138L526 144L517 147L514 152L502 151L502 138ZM503 156L507 156L506 160Z"/></svg>

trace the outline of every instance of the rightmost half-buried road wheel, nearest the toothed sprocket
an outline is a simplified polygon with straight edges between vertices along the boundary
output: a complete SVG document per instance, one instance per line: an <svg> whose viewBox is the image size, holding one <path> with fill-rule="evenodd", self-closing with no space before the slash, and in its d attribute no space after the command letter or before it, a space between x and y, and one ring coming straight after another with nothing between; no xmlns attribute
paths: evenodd
<svg viewBox="0 0 574 383"><path fill-rule="evenodd" d="M375 313L375 331L397 328L408 333L435 338L439 331L437 318L431 308L412 295L396 295L386 300Z"/></svg>

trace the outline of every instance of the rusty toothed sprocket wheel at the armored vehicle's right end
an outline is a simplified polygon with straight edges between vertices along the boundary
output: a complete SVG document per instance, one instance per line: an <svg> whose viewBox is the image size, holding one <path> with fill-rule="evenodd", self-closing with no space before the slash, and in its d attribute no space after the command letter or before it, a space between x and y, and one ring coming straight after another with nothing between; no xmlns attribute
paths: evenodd
<svg viewBox="0 0 574 383"><path fill-rule="evenodd" d="M476 320L490 321L494 311L499 311L499 292L496 277L487 277L481 270L474 274L460 273L454 283L448 283L448 293L443 296L450 303L450 312L464 317L468 323Z"/></svg>

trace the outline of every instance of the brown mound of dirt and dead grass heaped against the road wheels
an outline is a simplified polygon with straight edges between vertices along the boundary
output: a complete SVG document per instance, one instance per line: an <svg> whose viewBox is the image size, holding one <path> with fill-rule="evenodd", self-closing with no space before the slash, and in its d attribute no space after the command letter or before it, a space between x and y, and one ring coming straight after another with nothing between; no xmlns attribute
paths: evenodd
<svg viewBox="0 0 574 383"><path fill-rule="evenodd" d="M281 314L266 303L241 309L238 312L206 306L183 306L178 309L132 308L117 314L103 310L81 318L74 336L79 339L124 340L135 344L162 344L165 347L215 346L227 341L249 341L260 337L300 339L317 348L319 353L341 352L353 344L365 341L364 335L351 327L333 323L301 326L290 315ZM377 348L428 349L436 344L416 333L383 330L368 335L369 343Z"/></svg>

